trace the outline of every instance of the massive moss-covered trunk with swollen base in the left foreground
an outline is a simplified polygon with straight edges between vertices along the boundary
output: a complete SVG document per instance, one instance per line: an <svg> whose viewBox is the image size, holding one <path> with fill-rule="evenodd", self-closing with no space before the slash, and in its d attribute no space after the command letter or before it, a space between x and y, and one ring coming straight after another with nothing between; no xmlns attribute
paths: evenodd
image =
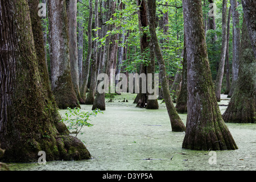
<svg viewBox="0 0 256 182"><path fill-rule="evenodd" d="M3 161L38 162L39 151L46 152L47 161L88 159L90 154L84 144L75 137L61 135L65 130L56 127L59 115L47 86L37 14L39 1L29 4L31 9L26 0L0 1L0 78L4 81L0 93L0 143L6 150Z"/></svg>

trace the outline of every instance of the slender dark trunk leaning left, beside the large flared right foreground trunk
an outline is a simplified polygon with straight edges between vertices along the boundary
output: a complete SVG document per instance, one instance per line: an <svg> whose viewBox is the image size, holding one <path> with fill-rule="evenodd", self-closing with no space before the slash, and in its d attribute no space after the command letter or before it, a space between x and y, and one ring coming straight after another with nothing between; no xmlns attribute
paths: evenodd
<svg viewBox="0 0 256 182"><path fill-rule="evenodd" d="M164 101L166 102L166 107L168 111L168 115L171 121L172 131L185 131L184 123L181 121L179 114L175 110L174 104L172 103L170 92L167 86L167 76L166 76L166 67L164 63L164 59L162 56L162 52L158 43L158 38L156 36L156 26L155 26L155 14L156 14L156 3L155 1L147 1L148 6L148 21L150 27L150 35L152 43L154 44L154 51L156 59L159 61L159 69L161 76L163 77L161 80L161 85L163 89Z"/></svg>

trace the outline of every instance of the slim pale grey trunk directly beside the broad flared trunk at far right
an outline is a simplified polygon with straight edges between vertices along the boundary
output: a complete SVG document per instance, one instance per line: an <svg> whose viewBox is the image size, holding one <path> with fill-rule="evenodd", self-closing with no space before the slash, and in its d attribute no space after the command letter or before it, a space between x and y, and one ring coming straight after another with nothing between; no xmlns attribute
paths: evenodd
<svg viewBox="0 0 256 182"><path fill-rule="evenodd" d="M232 59L232 82L228 97L232 97L238 78L239 53L240 53L240 28L237 0L230 0L233 19L233 59Z"/></svg>

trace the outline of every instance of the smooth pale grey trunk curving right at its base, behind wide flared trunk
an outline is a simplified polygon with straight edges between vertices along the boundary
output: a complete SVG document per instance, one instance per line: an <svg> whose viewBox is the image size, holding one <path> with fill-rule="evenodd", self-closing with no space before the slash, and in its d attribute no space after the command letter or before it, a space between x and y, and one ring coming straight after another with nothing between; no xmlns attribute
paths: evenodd
<svg viewBox="0 0 256 182"><path fill-rule="evenodd" d="M76 92L77 99L84 103L80 96L79 89L79 65L77 55L77 1L66 0L68 16L68 35L69 35L69 59L71 68L71 80Z"/></svg>

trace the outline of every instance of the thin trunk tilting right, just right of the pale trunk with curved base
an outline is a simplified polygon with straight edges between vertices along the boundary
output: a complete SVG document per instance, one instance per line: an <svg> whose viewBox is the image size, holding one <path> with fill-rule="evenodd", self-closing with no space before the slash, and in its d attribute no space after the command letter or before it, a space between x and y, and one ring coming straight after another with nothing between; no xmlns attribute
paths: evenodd
<svg viewBox="0 0 256 182"><path fill-rule="evenodd" d="M98 28L98 0L95 1L94 4L94 28ZM94 32L94 38L98 37L98 30ZM96 94L96 85L97 85L97 60L98 60L98 42L97 39L94 40L93 43L93 59L92 59L92 72L91 72L91 78L90 78L90 88L89 93L86 97L85 104L86 105L93 105L94 97Z"/></svg>

